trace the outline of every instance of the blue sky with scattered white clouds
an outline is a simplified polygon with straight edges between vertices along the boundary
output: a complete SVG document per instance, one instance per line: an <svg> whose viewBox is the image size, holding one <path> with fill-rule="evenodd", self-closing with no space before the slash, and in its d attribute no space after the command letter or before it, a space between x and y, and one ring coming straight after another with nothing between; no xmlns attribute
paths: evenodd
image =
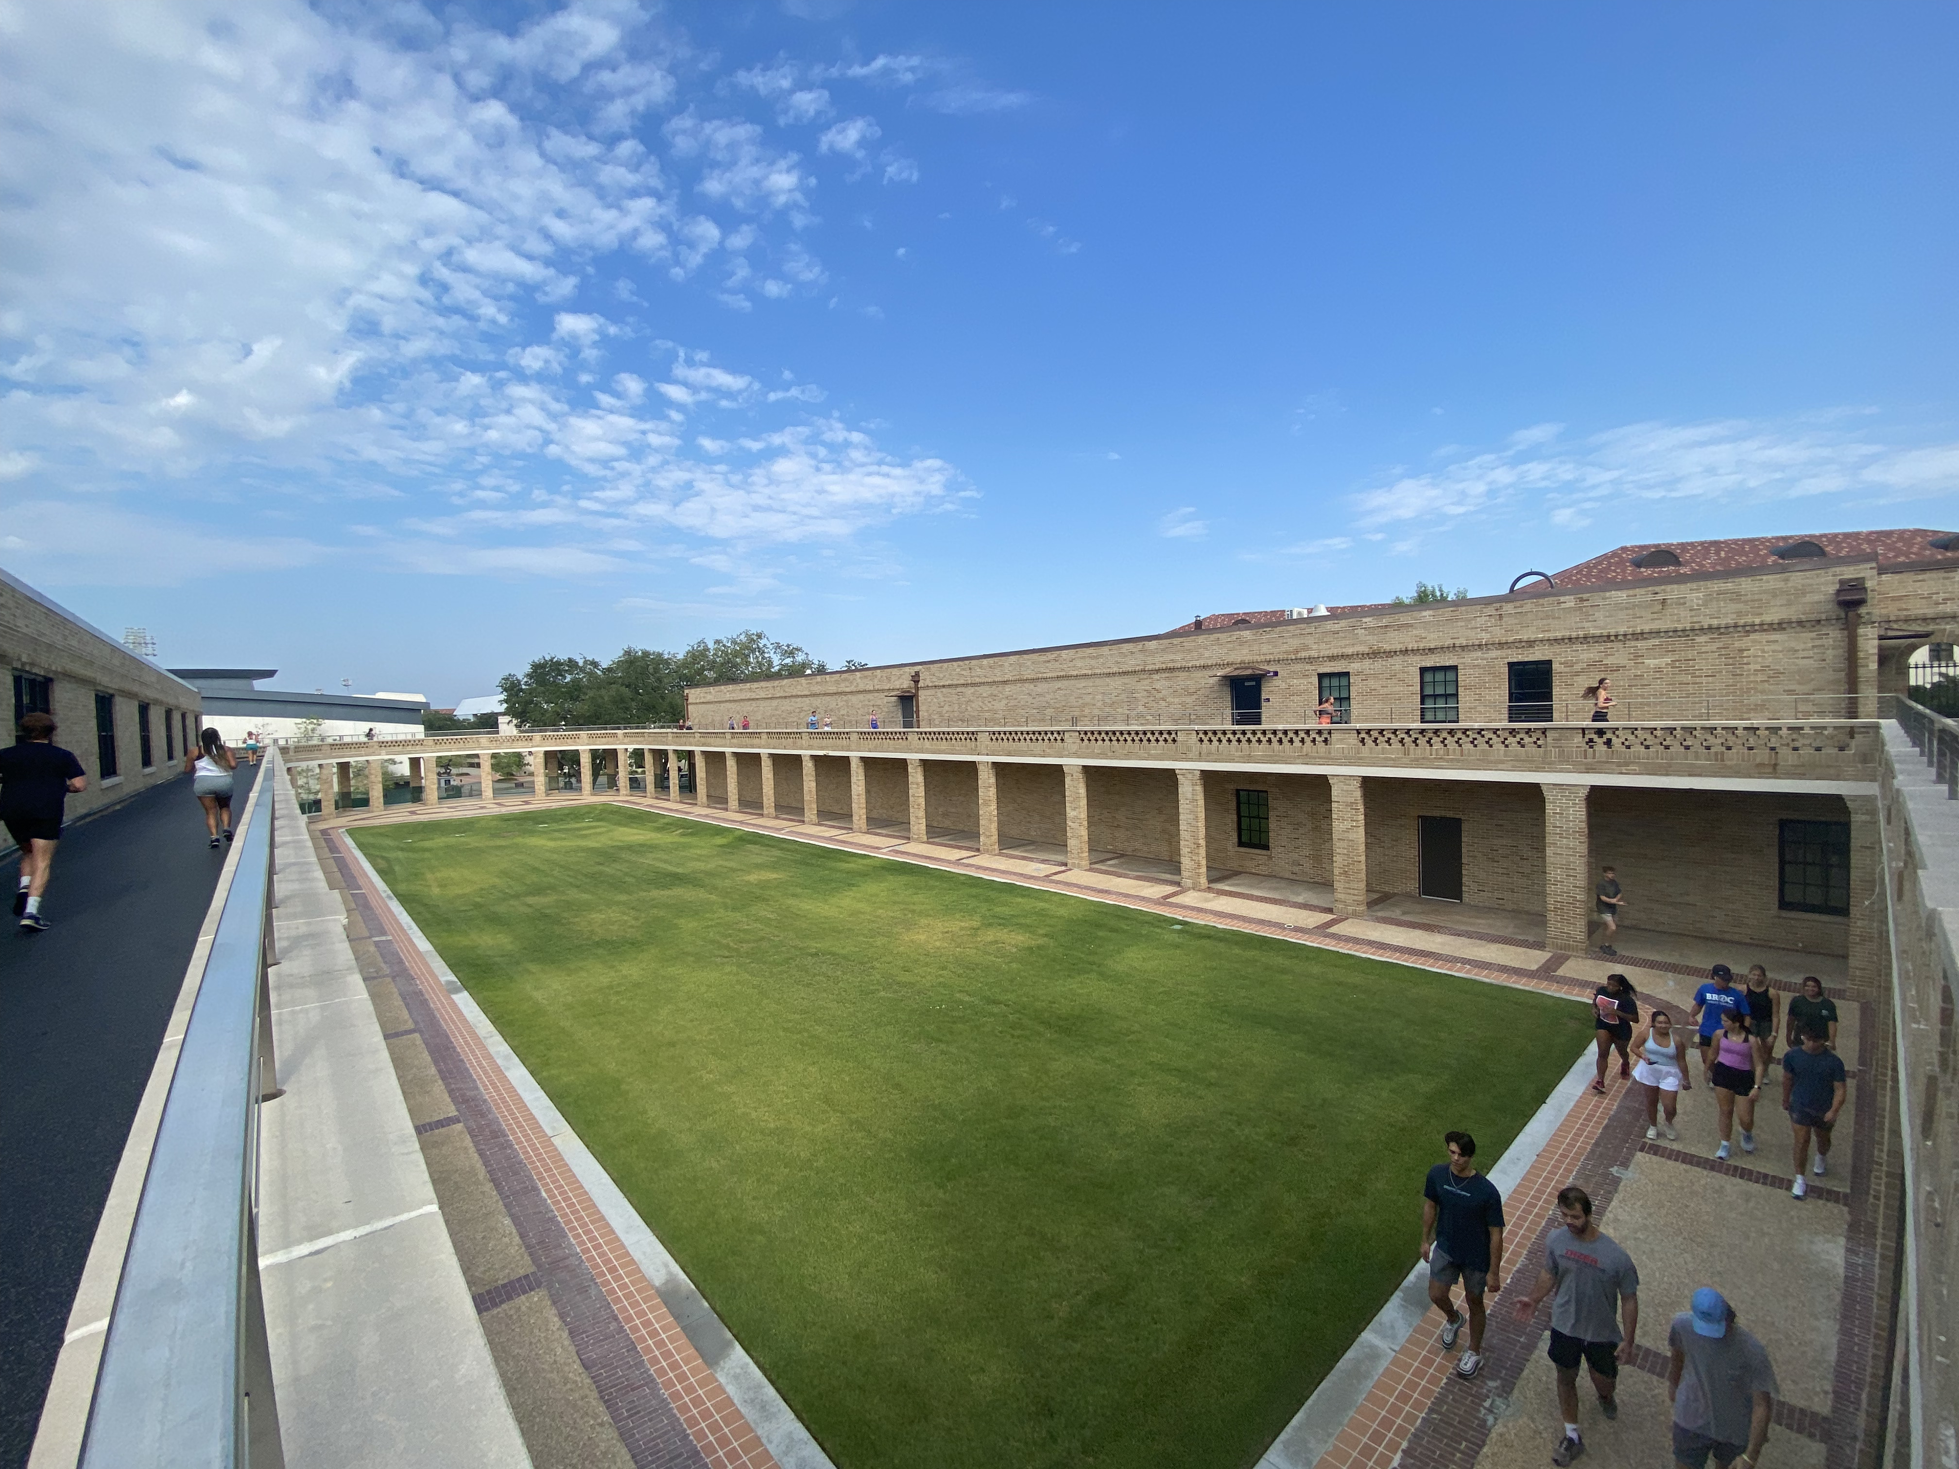
<svg viewBox="0 0 1959 1469"><path fill-rule="evenodd" d="M0 564L887 662L1959 529L1947 6L0 0Z"/></svg>

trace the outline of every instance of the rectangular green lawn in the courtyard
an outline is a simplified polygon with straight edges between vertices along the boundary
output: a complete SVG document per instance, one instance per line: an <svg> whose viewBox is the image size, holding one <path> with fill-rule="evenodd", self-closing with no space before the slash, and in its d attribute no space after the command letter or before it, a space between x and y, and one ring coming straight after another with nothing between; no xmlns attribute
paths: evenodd
<svg viewBox="0 0 1959 1469"><path fill-rule="evenodd" d="M1254 1463L1591 1036L613 807L357 838L840 1469Z"/></svg>

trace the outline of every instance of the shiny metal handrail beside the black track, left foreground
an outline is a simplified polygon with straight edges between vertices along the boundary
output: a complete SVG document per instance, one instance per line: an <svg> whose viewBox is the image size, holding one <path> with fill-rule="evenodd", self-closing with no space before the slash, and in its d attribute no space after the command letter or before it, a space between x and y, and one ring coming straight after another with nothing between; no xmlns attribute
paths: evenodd
<svg viewBox="0 0 1959 1469"><path fill-rule="evenodd" d="M282 1469L259 1295L259 1105L278 1095L272 950L274 750L178 1046L110 1310L80 1469Z"/></svg>

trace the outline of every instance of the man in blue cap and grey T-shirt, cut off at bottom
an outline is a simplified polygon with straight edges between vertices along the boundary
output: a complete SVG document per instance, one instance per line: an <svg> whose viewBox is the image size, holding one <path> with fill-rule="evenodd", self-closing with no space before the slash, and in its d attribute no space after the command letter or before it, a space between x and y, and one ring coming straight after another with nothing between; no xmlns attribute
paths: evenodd
<svg viewBox="0 0 1959 1469"><path fill-rule="evenodd" d="M1693 1310L1673 1318L1667 1344L1675 1463L1706 1469L1712 1453L1720 1469L1755 1469L1775 1406L1767 1350L1736 1324L1734 1306L1712 1285L1695 1291Z"/></svg>

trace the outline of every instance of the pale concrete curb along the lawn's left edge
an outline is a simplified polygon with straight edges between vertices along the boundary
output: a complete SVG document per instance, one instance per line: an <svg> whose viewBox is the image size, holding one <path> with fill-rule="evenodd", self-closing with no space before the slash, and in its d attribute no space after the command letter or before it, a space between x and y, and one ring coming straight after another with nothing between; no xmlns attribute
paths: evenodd
<svg viewBox="0 0 1959 1469"><path fill-rule="evenodd" d="M633 1208L633 1203L621 1193L619 1185L613 1183L605 1165L586 1148L578 1132L572 1130L572 1124L564 1120L564 1114L545 1095L537 1077L531 1075L529 1067L509 1048L509 1042L490 1022L490 1017L484 1015L470 991L464 989L462 981L443 962L443 956L407 915L407 909L402 907L388 883L374 872L358 842L349 840L347 850L360 864L360 874L368 881L368 893L388 905L388 911L394 913L402 928L415 942L415 948L421 950L429 968L443 981L443 989L454 997L484 1046L496 1058L498 1066L503 1067L503 1075L509 1077L511 1087L523 1097L525 1107L531 1109L531 1114L566 1165L584 1185L586 1193L592 1195L592 1203L597 1205L605 1222L619 1234L619 1240L646 1273L652 1289L660 1293L666 1308L674 1312L674 1320L680 1322L693 1350L701 1353L701 1359L721 1379L729 1397L735 1398L735 1406L748 1418L748 1424L776 1457L776 1463L784 1469L835 1469L823 1445L803 1428L795 1410L782 1398L742 1344L735 1340L735 1334L729 1332L713 1306L707 1304L707 1299L688 1279L680 1261L660 1244L660 1238L646 1226L646 1220Z"/></svg>

